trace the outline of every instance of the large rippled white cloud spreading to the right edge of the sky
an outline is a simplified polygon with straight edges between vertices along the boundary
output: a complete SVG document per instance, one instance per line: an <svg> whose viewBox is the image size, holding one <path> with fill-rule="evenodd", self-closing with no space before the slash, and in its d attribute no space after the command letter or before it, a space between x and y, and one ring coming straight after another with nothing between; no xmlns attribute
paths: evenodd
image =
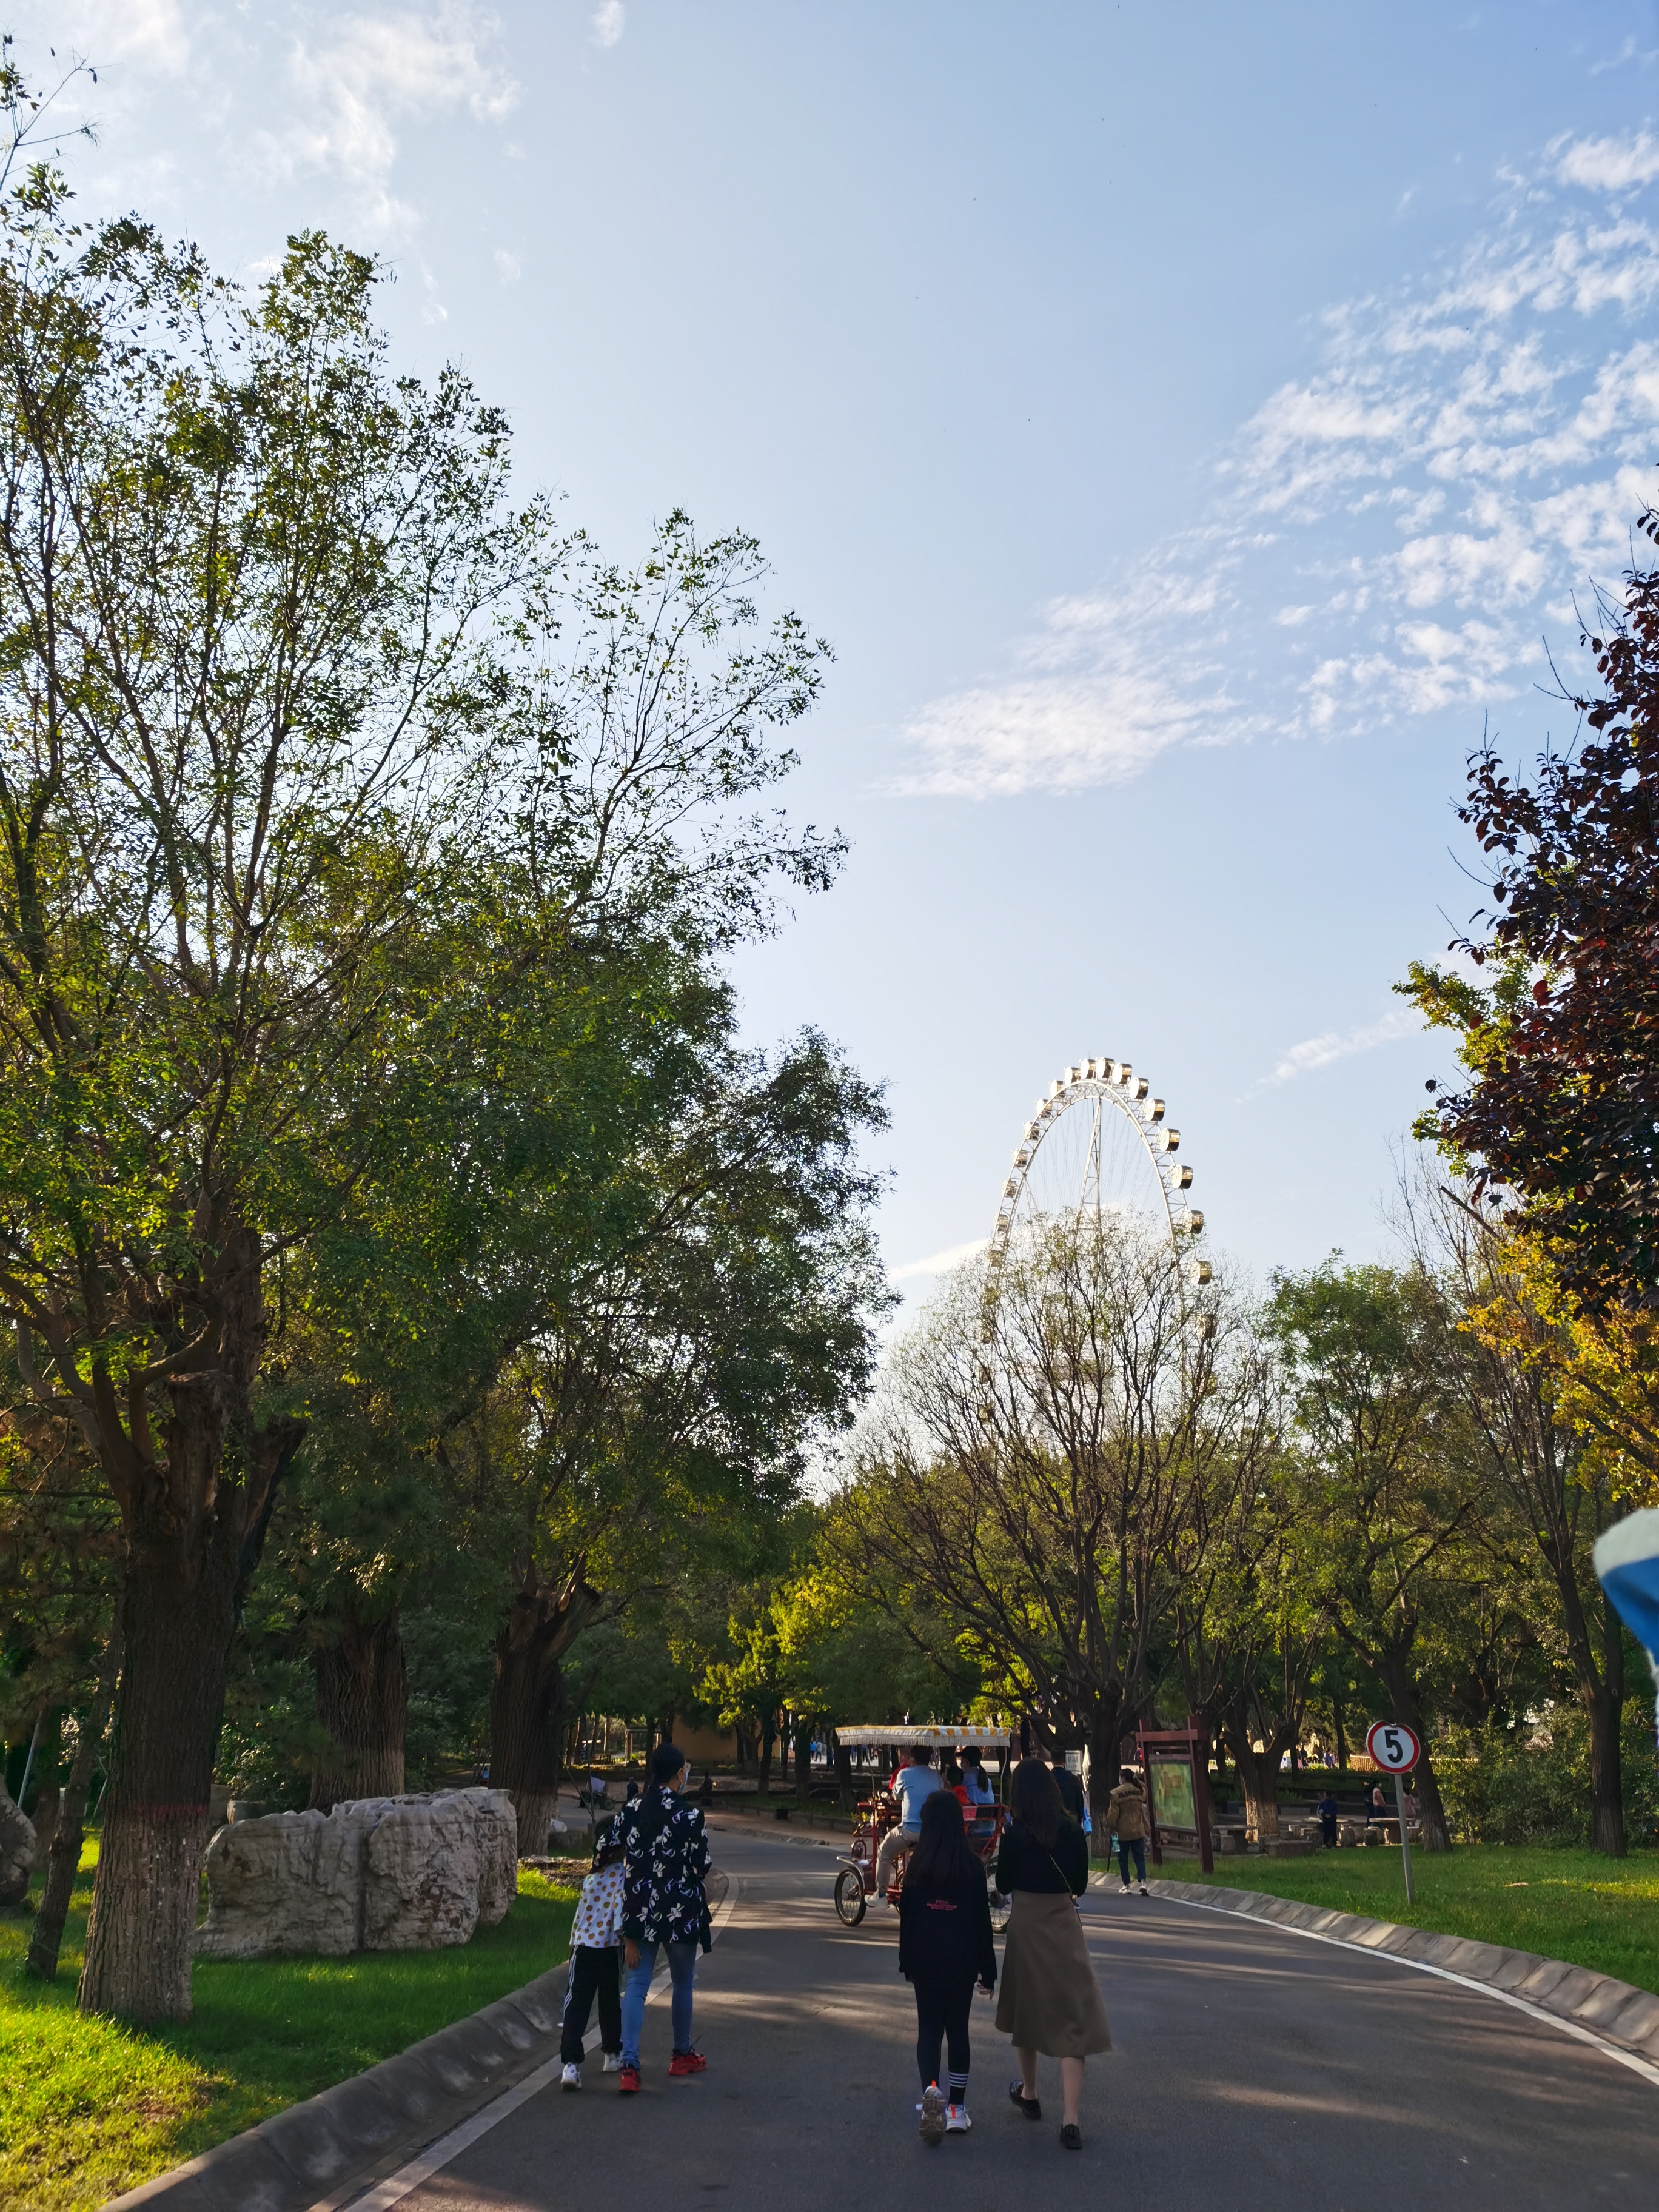
<svg viewBox="0 0 1659 2212"><path fill-rule="evenodd" d="M1175 745L1374 732L1544 679L1544 635L1575 644L1575 595L1617 582L1655 493L1659 343L1632 321L1659 305L1659 228L1604 197L1646 184L1648 133L1557 142L1453 265L1334 307L1312 374L1219 456L1206 524L918 708L891 787L1073 792Z"/></svg>

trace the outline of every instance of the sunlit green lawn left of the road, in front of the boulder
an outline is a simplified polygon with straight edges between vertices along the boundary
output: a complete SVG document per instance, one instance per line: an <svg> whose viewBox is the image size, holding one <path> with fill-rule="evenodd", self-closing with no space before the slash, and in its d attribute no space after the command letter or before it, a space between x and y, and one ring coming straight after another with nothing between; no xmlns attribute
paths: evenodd
<svg viewBox="0 0 1659 2212"><path fill-rule="evenodd" d="M97 1845L51 1989L24 1980L29 1913L0 1918L0 2208L82 2212L392 2057L555 1966L575 1893L520 1871L500 1927L456 1951L380 1951L195 1969L186 2028L75 2011ZM33 1898L31 1898L33 1911Z"/></svg>

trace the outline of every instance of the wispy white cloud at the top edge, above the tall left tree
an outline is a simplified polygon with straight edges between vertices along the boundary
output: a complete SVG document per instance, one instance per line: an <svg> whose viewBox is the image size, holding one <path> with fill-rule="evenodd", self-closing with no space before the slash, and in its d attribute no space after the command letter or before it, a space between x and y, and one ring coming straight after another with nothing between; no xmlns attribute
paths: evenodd
<svg viewBox="0 0 1659 2212"><path fill-rule="evenodd" d="M263 133L265 166L336 175L383 239L405 239L418 215L392 192L398 126L471 115L502 122L518 84L491 58L493 15L465 4L436 13L345 15L316 44L294 40L290 75L301 113Z"/></svg>

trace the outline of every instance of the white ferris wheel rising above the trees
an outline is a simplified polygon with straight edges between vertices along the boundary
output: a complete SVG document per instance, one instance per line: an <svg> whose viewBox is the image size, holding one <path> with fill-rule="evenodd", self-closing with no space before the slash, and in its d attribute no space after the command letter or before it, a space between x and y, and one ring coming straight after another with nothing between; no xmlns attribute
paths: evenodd
<svg viewBox="0 0 1659 2212"><path fill-rule="evenodd" d="M1126 1060L1064 1068L1020 1135L984 1261L987 1323L1009 1250L1042 1221L1124 1214L1157 1223L1192 1283L1210 1281L1203 1214L1188 1201L1192 1168L1177 1159L1181 1130Z"/></svg>

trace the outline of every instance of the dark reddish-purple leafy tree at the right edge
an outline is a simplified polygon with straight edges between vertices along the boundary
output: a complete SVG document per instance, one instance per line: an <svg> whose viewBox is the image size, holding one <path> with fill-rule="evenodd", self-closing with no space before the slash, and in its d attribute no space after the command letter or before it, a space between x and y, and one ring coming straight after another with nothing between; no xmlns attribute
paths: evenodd
<svg viewBox="0 0 1659 2212"><path fill-rule="evenodd" d="M1637 533L1659 542L1659 513ZM1471 1164L1475 1199L1555 1245L1590 1307L1659 1303L1659 566L1597 595L1584 644L1599 690L1566 695L1590 737L1511 781L1491 745L1458 810L1486 854L1493 907L1455 949L1498 989L1413 969L1405 987L1467 1033L1473 1082L1431 1133ZM1433 1088L1433 1086L1431 1086Z"/></svg>

